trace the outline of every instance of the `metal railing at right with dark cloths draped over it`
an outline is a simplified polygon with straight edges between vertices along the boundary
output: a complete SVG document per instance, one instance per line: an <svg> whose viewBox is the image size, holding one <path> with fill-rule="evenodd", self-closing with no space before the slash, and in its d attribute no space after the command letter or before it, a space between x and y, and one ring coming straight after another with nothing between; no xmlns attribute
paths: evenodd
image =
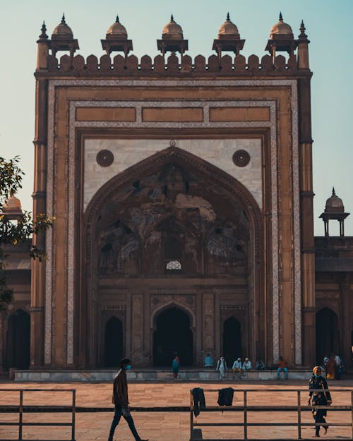
<svg viewBox="0 0 353 441"><path fill-rule="evenodd" d="M219 392L220 389L203 389L203 392ZM323 389L325 392L328 389ZM287 392L287 393L296 393L297 394L297 403L290 405L290 406L254 406L248 404L249 394L252 394L253 392ZM201 412L242 412L244 414L244 420L240 423L197 423L194 421L194 406L193 406L193 394L192 389L190 390L190 440L205 440L205 438L201 437L201 433L198 433L198 430L194 430L195 428L201 428L201 427L243 427L244 428L244 440L248 440L248 428L249 427L268 427L268 426L287 426L287 427L294 427L297 428L297 438L299 440L302 440L303 437L301 436L301 428L303 427L314 427L316 425L323 425L323 423L303 423L301 421L301 413L302 412L311 412L313 410L312 406L302 405L301 404L301 394L306 394L306 401L307 401L307 395L309 390L308 389L234 389L234 393L242 394L242 404L237 404L237 406L206 406L205 409L201 409ZM313 392L317 392L313 391ZM351 404L347 406L315 406L315 409L329 409L330 411L349 411L351 413L351 422L350 423L329 423L330 427L333 426L344 426L344 427L350 427L351 428L351 440L353 440L353 391L347 390L347 389L333 389L330 390L330 393L336 393L336 392L346 392L350 393L351 395ZM289 411L295 411L297 412L297 421L296 422L288 422L288 423L249 423L248 421L248 414L249 412L289 412ZM347 420L348 421L348 420ZM330 439L334 439L335 437L330 437ZM234 440L239 440L239 437L234 438ZM255 438L254 438L255 439ZM269 438L270 439L270 438ZM294 438L292 438L294 439ZM339 438L337 438L339 439ZM342 437L340 437L342 440ZM347 439L347 438L346 438ZM349 439L349 438L348 438ZM230 441L230 438L227 438L228 441Z"/></svg>

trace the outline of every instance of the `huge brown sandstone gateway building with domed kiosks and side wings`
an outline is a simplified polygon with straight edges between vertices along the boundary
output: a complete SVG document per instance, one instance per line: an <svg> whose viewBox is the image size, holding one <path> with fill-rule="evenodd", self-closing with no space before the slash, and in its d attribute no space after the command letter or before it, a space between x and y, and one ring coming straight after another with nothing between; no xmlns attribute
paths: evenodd
<svg viewBox="0 0 353 441"><path fill-rule="evenodd" d="M166 366L178 351L184 366L209 352L300 367L336 351L352 368L353 238L334 193L313 236L304 23L295 39L280 16L261 60L244 41L228 16L215 54L192 60L172 18L161 54L138 60L117 18L83 59L64 17L50 40L43 25L33 210L56 222L37 238L45 262L30 270L25 246L9 259L0 366Z"/></svg>

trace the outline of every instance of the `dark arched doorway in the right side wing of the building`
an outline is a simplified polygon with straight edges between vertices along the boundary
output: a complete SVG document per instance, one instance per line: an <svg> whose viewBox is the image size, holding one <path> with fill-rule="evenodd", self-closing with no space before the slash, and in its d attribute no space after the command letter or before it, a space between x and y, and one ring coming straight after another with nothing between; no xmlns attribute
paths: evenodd
<svg viewBox="0 0 353 441"><path fill-rule="evenodd" d="M332 309L323 308L316 313L316 362L321 365L331 353L340 354L338 319Z"/></svg>

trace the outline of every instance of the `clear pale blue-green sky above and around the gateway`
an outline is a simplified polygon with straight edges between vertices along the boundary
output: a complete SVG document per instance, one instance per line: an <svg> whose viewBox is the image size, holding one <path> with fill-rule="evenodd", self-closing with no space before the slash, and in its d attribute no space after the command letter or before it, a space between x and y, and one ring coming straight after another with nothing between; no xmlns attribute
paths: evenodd
<svg viewBox="0 0 353 441"><path fill-rule="evenodd" d="M133 40L133 54L157 55L157 38L170 14L189 40L189 55L208 57L217 30L229 11L246 40L242 54L265 54L270 28L282 11L294 37L304 19L311 41L309 55L313 79L313 190L315 234L323 235L325 200L335 186L336 194L352 212L345 222L346 236L353 236L353 0L4 0L1 6L0 155L20 155L25 171L19 197L32 210L33 145L35 129L36 40L42 21L52 34L66 15L66 23L80 44L79 54L103 54L100 39L114 23L116 13ZM334 223L331 234L337 234Z"/></svg>

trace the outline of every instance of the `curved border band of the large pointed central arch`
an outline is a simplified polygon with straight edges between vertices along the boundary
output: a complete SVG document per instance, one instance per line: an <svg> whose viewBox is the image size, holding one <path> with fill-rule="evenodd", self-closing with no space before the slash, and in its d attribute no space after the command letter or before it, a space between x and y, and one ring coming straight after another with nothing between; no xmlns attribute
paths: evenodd
<svg viewBox="0 0 353 441"><path fill-rule="evenodd" d="M209 186L215 188L221 188L222 192L227 195L227 200L234 200L246 217L246 222L249 224L249 236L251 248L251 262L253 265L251 271L251 289L253 290L253 316L256 320L263 320L258 323L258 329L265 328L264 318L266 316L264 308L266 302L261 300L261 296L264 295L263 286L263 272L264 263L262 258L263 252L263 217L261 209L258 206L253 195L246 189L246 187L237 181L234 177L227 174L225 171L215 167L213 164L196 157L196 155L186 152L179 147L168 147L165 150L157 152L155 155L144 159L129 167L120 174L114 176L107 181L100 189L95 193L94 197L88 204L83 215L83 228L81 229L81 252L80 252L80 280L81 286L76 296L76 304L78 305L78 314L80 315L80 329L77 334L81 339L89 339L90 344L99 346L97 341L97 334L94 333L95 323L94 313L95 307L92 306L92 299L96 295L97 278L95 276L95 267L97 267L97 255L92 252L93 247L97 241L96 226L100 218L100 214L103 208L112 199L112 195L121 191L122 188L127 186L138 185L138 182L146 176L157 174L159 171L168 167L168 164L177 164L182 169L186 169L188 172L195 173L204 181L207 181ZM88 336L91 332L90 336ZM258 332L253 339L253 347L263 348L265 347L265 333ZM95 354L97 349L88 347L87 342L81 341L79 343L80 354L85 352L85 361L81 362L81 366L94 366ZM255 350L255 349L254 349ZM250 354L249 354L250 355ZM253 354L256 356L256 354ZM82 359L82 358L81 358Z"/></svg>

